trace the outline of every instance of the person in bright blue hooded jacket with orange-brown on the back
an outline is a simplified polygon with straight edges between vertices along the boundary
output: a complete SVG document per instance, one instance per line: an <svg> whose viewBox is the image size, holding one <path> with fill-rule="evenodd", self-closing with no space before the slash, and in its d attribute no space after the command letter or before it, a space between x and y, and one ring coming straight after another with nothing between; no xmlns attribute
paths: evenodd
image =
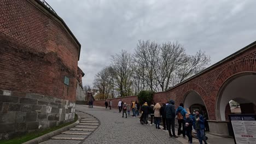
<svg viewBox="0 0 256 144"><path fill-rule="evenodd" d="M179 124L178 136L182 134L183 137L185 137L184 124L183 124L184 119L183 118L185 118L186 113L187 113L187 111L184 109L184 105L182 103L179 104L179 107L176 111L178 124ZM182 130L181 130L181 128L182 128Z"/></svg>

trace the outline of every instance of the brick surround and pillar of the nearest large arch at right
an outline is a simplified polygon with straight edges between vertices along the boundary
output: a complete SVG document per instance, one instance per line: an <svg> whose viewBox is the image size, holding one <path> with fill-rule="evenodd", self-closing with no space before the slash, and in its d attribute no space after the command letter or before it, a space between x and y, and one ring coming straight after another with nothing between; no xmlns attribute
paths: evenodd
<svg viewBox="0 0 256 144"><path fill-rule="evenodd" d="M229 82L235 79L235 77L248 74L255 73L256 71L256 59L243 59L242 61L237 61L225 67L222 72L218 75L217 79L213 82L212 91L210 94L210 99L214 103L213 113L215 115L211 115L210 119L220 120L218 115L218 100L221 98L222 90ZM208 100L209 101L209 100Z"/></svg>

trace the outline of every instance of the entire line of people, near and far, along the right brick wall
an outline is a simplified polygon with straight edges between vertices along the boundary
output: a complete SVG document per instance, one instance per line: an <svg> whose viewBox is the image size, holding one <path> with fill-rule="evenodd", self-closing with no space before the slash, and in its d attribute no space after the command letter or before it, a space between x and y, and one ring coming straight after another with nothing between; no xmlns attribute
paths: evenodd
<svg viewBox="0 0 256 144"><path fill-rule="evenodd" d="M105 102L106 109L109 106L111 110L112 101L109 102L106 100ZM118 102L119 113L123 112L123 116L125 114L125 118L127 115L130 116L130 111L132 111L132 116L139 116L140 105L137 101L131 101L131 104L124 103L123 100L119 100ZM182 135L185 137L188 136L189 143L193 142L192 131L193 128L196 131L197 138L202 144L202 142L206 142L205 136L205 118L200 114L200 110L194 110L193 115L191 115L189 109L184 109L184 105L180 104L175 109L174 100L170 100L167 104L159 103L148 105L148 103L144 103L141 107L142 115L140 117L140 122L142 124L148 124L149 114L151 117L154 117L155 128L160 129L160 122L162 119L162 123L164 125L164 130L168 130L170 137L177 138ZM175 121L176 116L178 120L178 136L175 134Z"/></svg>

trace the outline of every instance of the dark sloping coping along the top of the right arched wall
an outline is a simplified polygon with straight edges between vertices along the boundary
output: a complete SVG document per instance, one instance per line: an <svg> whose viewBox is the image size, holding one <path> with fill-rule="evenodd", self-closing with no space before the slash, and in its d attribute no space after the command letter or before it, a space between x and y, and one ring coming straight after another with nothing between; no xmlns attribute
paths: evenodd
<svg viewBox="0 0 256 144"><path fill-rule="evenodd" d="M195 74L194 76L191 76L189 79L187 79L187 80L185 80L185 81L179 83L178 85L173 86L173 87L167 89L167 91L170 91L170 90L173 89L173 88L176 88L176 87L178 87L178 86L181 86L181 85L183 85L184 83L186 83L186 82L188 82L188 81L190 81L190 80L192 80L192 79L195 79L196 77L198 77L198 76L200 76L200 75L202 75L202 74L207 73L208 71L210 71L210 70L212 70L212 69L218 67L220 64L223 64L224 62L229 61L231 58L233 58L233 57L235 57L235 56L237 56L237 55L240 55L240 53L245 52L245 51L251 49L251 48L252 48L253 46L255 46L255 45L256 45L256 41L254 41L253 43L247 45L246 47L243 47L241 50L236 51L235 53L233 53L232 55L230 55L230 56L228 56L228 57L222 59L221 61L219 61L219 62L217 62L217 63L211 65L210 67L206 68L205 70L202 70L200 73L197 73L197 74Z"/></svg>

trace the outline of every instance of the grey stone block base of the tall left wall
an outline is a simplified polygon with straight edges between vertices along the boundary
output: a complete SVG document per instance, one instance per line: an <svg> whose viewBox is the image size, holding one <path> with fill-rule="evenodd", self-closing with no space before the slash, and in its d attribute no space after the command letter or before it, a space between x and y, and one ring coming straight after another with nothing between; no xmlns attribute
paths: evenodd
<svg viewBox="0 0 256 144"><path fill-rule="evenodd" d="M69 100L31 93L19 97L14 91L0 91L0 140L74 119L75 103Z"/></svg>

